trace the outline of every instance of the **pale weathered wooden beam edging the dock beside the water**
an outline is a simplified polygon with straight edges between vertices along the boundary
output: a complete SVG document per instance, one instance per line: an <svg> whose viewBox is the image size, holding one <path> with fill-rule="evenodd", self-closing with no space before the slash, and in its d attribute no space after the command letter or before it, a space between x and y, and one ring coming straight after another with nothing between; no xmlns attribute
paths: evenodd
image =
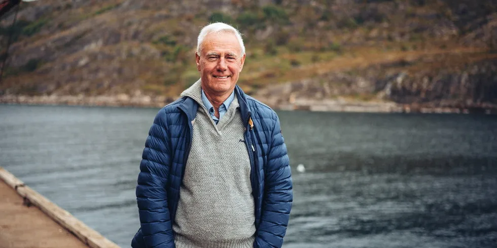
<svg viewBox="0 0 497 248"><path fill-rule="evenodd" d="M76 235L88 246L92 248L119 248L116 243L103 237L100 233L76 219L69 212L61 209L43 195L28 186L25 186L21 180L17 179L14 175L2 167L0 167L0 179L5 181L10 187L14 188L19 195L29 200L33 205L37 206L52 220Z"/></svg>

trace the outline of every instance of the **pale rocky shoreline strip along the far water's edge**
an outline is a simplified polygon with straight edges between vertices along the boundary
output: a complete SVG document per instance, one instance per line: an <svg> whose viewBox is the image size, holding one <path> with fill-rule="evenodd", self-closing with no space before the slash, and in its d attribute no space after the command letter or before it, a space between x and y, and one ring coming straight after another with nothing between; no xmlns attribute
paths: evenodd
<svg viewBox="0 0 497 248"><path fill-rule="evenodd" d="M276 103L261 97L274 110L312 112L357 112L357 113L447 113L447 114L497 114L497 106L477 107L434 107L398 104L393 102L360 102L340 100L303 100L293 103ZM0 96L0 104L31 106L84 106L84 107L136 107L162 108L176 99L162 96ZM265 101L269 100L269 101Z"/></svg>

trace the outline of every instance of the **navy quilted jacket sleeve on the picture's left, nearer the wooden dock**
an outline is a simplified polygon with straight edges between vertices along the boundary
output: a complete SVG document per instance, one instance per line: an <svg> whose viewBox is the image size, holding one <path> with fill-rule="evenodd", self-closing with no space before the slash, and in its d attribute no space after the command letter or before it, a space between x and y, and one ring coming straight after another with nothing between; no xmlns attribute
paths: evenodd
<svg viewBox="0 0 497 248"><path fill-rule="evenodd" d="M136 186L141 231L148 248L174 247L165 187L170 168L169 137L166 113L161 109L145 142Z"/></svg>

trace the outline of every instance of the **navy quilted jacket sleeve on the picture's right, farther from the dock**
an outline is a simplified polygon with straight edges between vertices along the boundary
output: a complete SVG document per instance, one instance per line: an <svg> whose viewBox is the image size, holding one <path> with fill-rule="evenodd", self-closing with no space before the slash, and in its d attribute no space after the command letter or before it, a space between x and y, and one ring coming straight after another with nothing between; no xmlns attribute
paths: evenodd
<svg viewBox="0 0 497 248"><path fill-rule="evenodd" d="M255 248L281 247L287 232L292 208L292 173L290 171L287 146L283 141L279 119L276 119L271 133L267 166L265 169L265 189L262 205L262 220L257 230Z"/></svg>

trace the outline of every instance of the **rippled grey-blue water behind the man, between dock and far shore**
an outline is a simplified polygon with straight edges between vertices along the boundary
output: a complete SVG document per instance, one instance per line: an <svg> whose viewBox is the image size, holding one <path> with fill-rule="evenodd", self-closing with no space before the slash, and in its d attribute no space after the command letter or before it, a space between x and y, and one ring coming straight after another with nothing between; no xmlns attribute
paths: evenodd
<svg viewBox="0 0 497 248"><path fill-rule="evenodd" d="M157 111L0 105L0 166L129 247ZM294 182L283 247L497 247L497 116L278 115Z"/></svg>

